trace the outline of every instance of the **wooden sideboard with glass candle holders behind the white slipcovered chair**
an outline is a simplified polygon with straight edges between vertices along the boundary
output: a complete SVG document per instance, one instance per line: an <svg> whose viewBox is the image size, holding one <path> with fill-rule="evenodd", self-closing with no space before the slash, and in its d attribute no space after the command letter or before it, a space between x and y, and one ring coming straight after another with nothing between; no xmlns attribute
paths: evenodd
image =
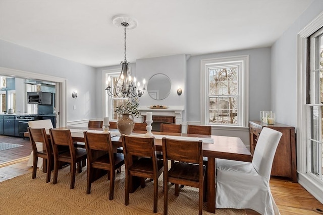
<svg viewBox="0 0 323 215"><path fill-rule="evenodd" d="M295 128L280 123L268 125L261 123L260 121L250 121L249 131L251 154L254 152L258 137L263 127L272 128L283 133L276 150L271 175L287 177L293 182L297 182Z"/></svg>

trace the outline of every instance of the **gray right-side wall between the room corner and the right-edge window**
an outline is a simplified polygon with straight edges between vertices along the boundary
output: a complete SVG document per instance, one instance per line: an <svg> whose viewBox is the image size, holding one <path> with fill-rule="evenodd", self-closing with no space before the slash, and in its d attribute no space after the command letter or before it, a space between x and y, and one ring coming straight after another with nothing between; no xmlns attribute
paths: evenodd
<svg viewBox="0 0 323 215"><path fill-rule="evenodd" d="M323 1L314 1L272 46L271 109L278 122L296 127L297 34L323 11Z"/></svg>

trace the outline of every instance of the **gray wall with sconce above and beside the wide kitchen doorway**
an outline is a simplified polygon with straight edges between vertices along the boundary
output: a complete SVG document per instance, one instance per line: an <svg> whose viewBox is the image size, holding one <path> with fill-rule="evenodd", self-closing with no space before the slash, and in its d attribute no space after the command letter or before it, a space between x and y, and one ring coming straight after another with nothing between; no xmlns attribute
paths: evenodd
<svg viewBox="0 0 323 215"><path fill-rule="evenodd" d="M0 66L31 73L65 78L67 84L67 121L96 117L95 69L80 63L0 40ZM23 77L21 77L23 78ZM77 90L78 97L71 94ZM73 110L76 105L76 110Z"/></svg>

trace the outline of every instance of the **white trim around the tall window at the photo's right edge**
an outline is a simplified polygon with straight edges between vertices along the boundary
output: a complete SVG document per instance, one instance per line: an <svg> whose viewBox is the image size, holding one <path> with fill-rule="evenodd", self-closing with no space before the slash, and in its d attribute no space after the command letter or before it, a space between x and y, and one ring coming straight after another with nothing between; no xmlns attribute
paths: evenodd
<svg viewBox="0 0 323 215"><path fill-rule="evenodd" d="M323 203L321 184L307 174L307 140L306 140L306 52L307 37L317 31L323 23L323 13L305 26L297 35L297 172L301 184L317 200Z"/></svg>

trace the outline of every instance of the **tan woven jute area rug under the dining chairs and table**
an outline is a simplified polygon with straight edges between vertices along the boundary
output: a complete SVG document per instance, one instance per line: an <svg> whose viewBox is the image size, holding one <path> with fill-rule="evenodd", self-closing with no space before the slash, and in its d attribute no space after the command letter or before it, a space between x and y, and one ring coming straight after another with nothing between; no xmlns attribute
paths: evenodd
<svg viewBox="0 0 323 215"><path fill-rule="evenodd" d="M1 169L0 169L1 172ZM86 194L86 167L76 173L75 188L70 189L70 168L59 171L58 183L45 182L45 173L37 170L35 179L31 173L0 183L0 214L163 214L163 174L158 180L158 211L153 213L153 181L145 188L139 187L130 193L129 205L124 205L124 167L116 174L114 199L109 200L109 185L106 175L92 183L91 193ZM53 174L51 174L53 175ZM206 211L203 214L213 214ZM174 186L169 188L168 214L198 214L198 189L185 186L180 195L174 195ZM216 214L242 214L244 209L216 209Z"/></svg>

